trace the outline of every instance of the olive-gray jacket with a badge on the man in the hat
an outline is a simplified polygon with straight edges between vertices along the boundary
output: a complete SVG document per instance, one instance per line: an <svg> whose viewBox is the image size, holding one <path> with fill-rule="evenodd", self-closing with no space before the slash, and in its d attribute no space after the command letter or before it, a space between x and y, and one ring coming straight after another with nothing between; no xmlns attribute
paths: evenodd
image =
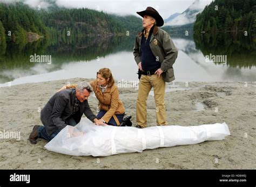
<svg viewBox="0 0 256 187"><path fill-rule="evenodd" d="M139 62L142 61L140 58L140 44L142 42L144 30L138 33L134 43L133 55L137 64L139 64ZM174 81L175 77L172 66L175 60L177 59L178 49L174 46L170 35L164 30L158 28L157 26L154 26L154 30L150 38L150 48L153 55L158 57L158 60L161 63L160 68L164 71L164 81Z"/></svg>

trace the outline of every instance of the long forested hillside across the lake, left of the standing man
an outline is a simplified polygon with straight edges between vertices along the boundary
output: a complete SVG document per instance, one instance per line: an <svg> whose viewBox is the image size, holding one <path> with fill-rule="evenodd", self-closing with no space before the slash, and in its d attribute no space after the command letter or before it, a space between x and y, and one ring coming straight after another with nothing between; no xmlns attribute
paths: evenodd
<svg viewBox="0 0 256 187"><path fill-rule="evenodd" d="M21 2L0 3L0 48L6 43L25 44L27 32L44 36L50 43L70 44L83 37L109 37L137 33L142 20L136 16L110 15L103 11L51 8L31 9Z"/></svg>

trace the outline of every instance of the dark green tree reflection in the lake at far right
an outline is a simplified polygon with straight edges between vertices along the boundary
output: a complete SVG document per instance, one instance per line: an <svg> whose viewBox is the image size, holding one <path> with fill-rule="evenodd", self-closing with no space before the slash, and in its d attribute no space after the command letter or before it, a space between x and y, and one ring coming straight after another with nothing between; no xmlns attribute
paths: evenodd
<svg viewBox="0 0 256 187"><path fill-rule="evenodd" d="M256 66L256 36L240 34L195 34L196 48L205 55L227 56L227 66L251 68Z"/></svg>

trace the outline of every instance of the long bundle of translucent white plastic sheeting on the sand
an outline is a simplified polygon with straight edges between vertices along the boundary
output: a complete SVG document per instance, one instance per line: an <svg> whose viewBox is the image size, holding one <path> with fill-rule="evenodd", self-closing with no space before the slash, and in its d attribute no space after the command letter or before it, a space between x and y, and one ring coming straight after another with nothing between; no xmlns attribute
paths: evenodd
<svg viewBox="0 0 256 187"><path fill-rule="evenodd" d="M52 152L68 155L109 156L142 152L145 149L192 145L203 141L223 140L230 135L228 126L154 126L147 128L97 126L82 118L75 127L66 126L45 145Z"/></svg>

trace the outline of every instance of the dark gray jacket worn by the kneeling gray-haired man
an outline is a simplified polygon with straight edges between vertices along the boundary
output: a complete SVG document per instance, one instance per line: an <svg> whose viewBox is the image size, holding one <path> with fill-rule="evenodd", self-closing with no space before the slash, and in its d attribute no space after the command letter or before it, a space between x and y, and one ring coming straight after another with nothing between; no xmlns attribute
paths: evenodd
<svg viewBox="0 0 256 187"><path fill-rule="evenodd" d="M66 120L72 117L79 123L83 113L93 121L96 116L92 113L90 106L85 100L80 104L79 110L73 114L73 106L76 98L76 89L66 89L53 95L41 111L41 121L45 126L46 133L50 136L55 130L62 130L66 125Z"/></svg>

